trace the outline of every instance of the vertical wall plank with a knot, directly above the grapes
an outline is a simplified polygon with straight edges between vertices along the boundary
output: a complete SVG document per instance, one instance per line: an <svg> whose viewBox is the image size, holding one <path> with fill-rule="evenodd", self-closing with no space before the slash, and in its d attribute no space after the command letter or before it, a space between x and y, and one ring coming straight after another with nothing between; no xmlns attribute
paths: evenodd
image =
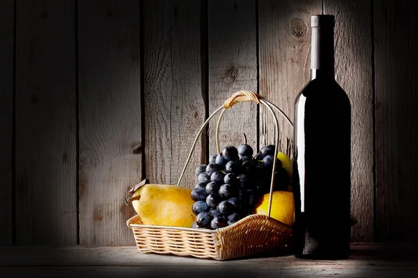
<svg viewBox="0 0 418 278"><path fill-rule="evenodd" d="M257 92L256 1L209 1L209 113L238 90ZM216 118L217 119L217 118ZM217 120L210 122L209 153L215 154ZM257 107L237 104L222 117L219 147L243 143L257 148Z"/></svg>

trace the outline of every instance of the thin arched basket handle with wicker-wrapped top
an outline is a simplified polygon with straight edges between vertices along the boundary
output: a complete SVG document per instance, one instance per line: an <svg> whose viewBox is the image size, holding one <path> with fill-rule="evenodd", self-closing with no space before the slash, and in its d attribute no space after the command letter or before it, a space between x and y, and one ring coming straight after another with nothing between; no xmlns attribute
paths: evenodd
<svg viewBox="0 0 418 278"><path fill-rule="evenodd" d="M187 160L185 162L185 166L183 167L183 171L180 174L180 178L178 179L178 183L177 183L178 186L180 185L180 182L183 179L187 165L189 164L190 158L192 157L194 147L196 147L196 142L197 140L199 140L199 137L201 136L203 129L206 127L206 125L208 125L208 122L210 121L210 119L212 119L212 117L214 117L216 113L222 110L222 113L221 115L219 115L219 119L217 122L217 149L219 153L220 152L219 150L219 124L222 119L222 115L225 113L226 109L231 108L234 104L237 104L238 102L248 102L248 101L254 101L256 104L263 104L264 106L268 108L268 111L272 113L272 116L274 118L274 125L276 127L276 144L274 147L274 158L277 158L277 152L278 152L278 147L279 147L279 121L277 120L277 115L274 113L273 108L279 111L279 113L281 113L281 115L283 115L286 118L287 122L291 124L291 126L293 127L291 120L287 117L287 115L283 111L280 110L280 108L272 104L270 101L264 99L261 95L258 95L254 92L241 90L241 91L235 92L233 95L231 95L231 97L226 99L226 101L224 102L224 105L217 108L215 112L213 112L201 126L201 129L199 130L199 132L196 135L196 138L194 139L192 149L189 152L189 156L187 156ZM272 179L270 183L270 197L268 201L268 213L267 213L268 217L270 217L270 210L272 206L274 176L275 176L274 172L276 169L276 161L277 159L274 159L273 167L272 167Z"/></svg>

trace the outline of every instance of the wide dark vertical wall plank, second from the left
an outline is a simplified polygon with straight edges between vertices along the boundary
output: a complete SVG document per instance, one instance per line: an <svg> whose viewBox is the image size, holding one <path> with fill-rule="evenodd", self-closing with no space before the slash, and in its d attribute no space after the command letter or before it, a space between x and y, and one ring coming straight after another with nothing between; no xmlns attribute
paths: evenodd
<svg viewBox="0 0 418 278"><path fill-rule="evenodd" d="M17 244L77 243L74 5L17 1Z"/></svg>

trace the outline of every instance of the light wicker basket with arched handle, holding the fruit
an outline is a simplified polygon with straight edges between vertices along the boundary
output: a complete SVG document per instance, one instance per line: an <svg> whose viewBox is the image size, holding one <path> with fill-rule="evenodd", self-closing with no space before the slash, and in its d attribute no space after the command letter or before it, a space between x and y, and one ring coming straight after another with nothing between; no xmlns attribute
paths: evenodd
<svg viewBox="0 0 418 278"><path fill-rule="evenodd" d="M201 127L194 140L194 144L185 163L185 167L183 168L183 172L180 174L177 185L180 184L183 178L196 142L209 120L217 112L222 110L217 122L216 132L217 150L220 152L219 124L222 115L227 108L231 108L234 104L243 101L254 101L257 104L263 104L272 113L277 130L275 149L277 155L277 146L279 145L279 124L273 109L279 111L281 115L284 115L289 124L292 125L291 121L283 111L277 108L277 106L274 106L274 104L263 99L261 95L248 91L235 92L235 94L225 101L224 106L219 107L212 115L210 115L210 117L208 117L208 120L206 120ZM276 161L274 161L273 169L275 168L275 163ZM210 230L145 225L142 223L139 215L135 215L130 218L130 220L127 220L127 226L132 229L135 242L141 253L153 252L226 260L245 256L260 256L261 254L288 252L291 247L291 227L274 218L270 218L273 185L274 171L272 172L272 183L270 185L268 215L249 215L228 227Z"/></svg>

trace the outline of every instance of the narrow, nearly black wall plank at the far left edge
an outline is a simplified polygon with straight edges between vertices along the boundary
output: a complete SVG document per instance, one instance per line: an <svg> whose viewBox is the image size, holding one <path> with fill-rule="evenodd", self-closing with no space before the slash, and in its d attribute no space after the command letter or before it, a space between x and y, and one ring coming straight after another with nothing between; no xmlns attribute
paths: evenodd
<svg viewBox="0 0 418 278"><path fill-rule="evenodd" d="M15 1L0 2L0 245L13 243L13 33Z"/></svg>

